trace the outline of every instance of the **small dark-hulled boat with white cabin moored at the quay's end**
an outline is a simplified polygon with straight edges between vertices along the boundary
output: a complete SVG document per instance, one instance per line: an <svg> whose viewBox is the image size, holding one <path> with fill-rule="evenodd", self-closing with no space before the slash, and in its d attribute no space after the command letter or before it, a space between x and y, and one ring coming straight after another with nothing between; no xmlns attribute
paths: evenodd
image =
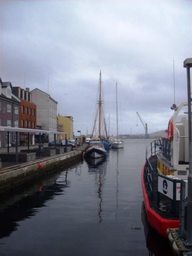
<svg viewBox="0 0 192 256"><path fill-rule="evenodd" d="M89 147L85 151L84 156L91 157L91 158L99 158L99 157L105 157L106 154L107 154L107 151L105 150L102 141L91 140L89 142Z"/></svg>

